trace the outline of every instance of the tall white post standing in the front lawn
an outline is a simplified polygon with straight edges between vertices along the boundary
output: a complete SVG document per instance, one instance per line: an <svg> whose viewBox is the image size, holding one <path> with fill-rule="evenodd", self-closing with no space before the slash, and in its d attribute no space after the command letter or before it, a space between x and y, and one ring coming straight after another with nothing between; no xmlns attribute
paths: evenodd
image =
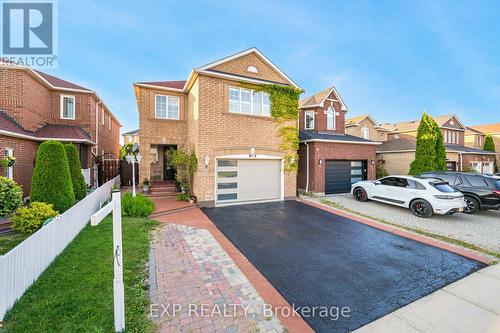
<svg viewBox="0 0 500 333"><path fill-rule="evenodd" d="M123 287L122 209L119 189L113 190L113 250L115 331L123 332L125 330L125 291Z"/></svg>

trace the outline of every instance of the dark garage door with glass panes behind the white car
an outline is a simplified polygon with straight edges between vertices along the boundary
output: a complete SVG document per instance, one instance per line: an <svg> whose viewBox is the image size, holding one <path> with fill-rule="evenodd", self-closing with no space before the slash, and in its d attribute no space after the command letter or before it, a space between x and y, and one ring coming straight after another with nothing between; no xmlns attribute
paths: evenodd
<svg viewBox="0 0 500 333"><path fill-rule="evenodd" d="M348 193L351 184L366 176L366 161L326 161L325 194Z"/></svg>

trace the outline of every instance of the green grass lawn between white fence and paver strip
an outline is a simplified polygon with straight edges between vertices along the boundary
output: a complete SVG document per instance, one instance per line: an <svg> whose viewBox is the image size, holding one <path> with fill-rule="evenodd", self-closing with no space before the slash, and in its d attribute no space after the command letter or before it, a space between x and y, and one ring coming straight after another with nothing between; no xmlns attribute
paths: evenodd
<svg viewBox="0 0 500 333"><path fill-rule="evenodd" d="M127 332L154 329L144 279L149 234L156 225L123 218ZM85 227L6 315L0 332L114 332L112 244L110 216L97 227Z"/></svg>

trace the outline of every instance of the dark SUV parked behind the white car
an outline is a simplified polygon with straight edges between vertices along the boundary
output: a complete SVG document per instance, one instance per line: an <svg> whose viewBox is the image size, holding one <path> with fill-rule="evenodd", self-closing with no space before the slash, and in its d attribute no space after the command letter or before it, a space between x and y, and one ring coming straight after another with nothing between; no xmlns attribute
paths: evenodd
<svg viewBox="0 0 500 333"><path fill-rule="evenodd" d="M426 172L421 177L438 178L464 194L467 207L465 213L474 214L480 209L500 208L500 180L481 174L467 172Z"/></svg>

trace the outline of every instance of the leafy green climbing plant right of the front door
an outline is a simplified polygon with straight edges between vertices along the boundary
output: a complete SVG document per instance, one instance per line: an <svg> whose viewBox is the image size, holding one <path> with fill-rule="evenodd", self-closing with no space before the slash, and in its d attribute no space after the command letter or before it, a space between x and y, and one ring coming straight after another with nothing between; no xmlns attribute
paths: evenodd
<svg viewBox="0 0 500 333"><path fill-rule="evenodd" d="M198 165L196 153L191 150L169 150L166 153L166 158L169 159L172 166L176 169L175 179L181 185L181 188L187 187L187 192L191 193L193 173Z"/></svg>

